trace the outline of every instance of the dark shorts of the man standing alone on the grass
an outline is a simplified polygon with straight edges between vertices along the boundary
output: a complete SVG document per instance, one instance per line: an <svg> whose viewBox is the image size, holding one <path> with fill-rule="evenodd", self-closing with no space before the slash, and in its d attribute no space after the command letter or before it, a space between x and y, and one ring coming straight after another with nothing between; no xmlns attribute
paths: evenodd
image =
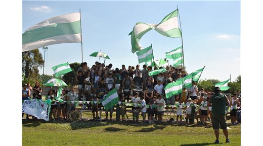
<svg viewBox="0 0 263 146"><path fill-rule="evenodd" d="M213 129L219 129L219 125L221 126L221 129L227 129L226 116L213 113L212 125L213 125Z"/></svg>

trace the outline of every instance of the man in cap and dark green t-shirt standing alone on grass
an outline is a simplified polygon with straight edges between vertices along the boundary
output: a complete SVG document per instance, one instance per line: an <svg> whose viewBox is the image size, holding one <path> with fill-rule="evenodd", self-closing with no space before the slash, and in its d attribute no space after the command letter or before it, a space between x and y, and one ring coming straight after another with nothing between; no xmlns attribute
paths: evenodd
<svg viewBox="0 0 263 146"><path fill-rule="evenodd" d="M226 136L226 142L230 142L228 138L227 120L226 120L226 106L229 105L229 100L226 95L220 92L219 87L215 87L214 95L209 98L208 107L212 104L212 125L216 137L215 144L219 143L219 125L223 129Z"/></svg>

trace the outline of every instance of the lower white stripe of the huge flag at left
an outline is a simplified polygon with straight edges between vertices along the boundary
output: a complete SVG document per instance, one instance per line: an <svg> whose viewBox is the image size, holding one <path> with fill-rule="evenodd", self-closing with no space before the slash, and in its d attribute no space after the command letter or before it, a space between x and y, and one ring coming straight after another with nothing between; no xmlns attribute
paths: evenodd
<svg viewBox="0 0 263 146"><path fill-rule="evenodd" d="M81 42L81 34L66 34L66 35L59 35L50 38L45 38L39 41L27 43L22 45L22 51L29 51L32 49L40 48L42 46L48 46L58 43L75 43Z"/></svg>

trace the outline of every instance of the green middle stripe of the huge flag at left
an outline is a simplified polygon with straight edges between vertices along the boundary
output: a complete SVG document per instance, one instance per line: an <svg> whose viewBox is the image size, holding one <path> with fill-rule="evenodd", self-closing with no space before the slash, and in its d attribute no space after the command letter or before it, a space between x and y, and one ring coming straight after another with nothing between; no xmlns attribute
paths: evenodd
<svg viewBox="0 0 263 146"><path fill-rule="evenodd" d="M79 34L80 21L72 23L60 23L47 27L29 30L22 34L22 44L38 41L41 39L65 35L65 34Z"/></svg>

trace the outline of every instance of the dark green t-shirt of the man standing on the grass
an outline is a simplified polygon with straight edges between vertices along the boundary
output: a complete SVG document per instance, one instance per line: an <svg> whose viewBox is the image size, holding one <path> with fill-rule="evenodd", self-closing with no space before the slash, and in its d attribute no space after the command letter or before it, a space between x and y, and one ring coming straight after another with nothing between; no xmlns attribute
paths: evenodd
<svg viewBox="0 0 263 146"><path fill-rule="evenodd" d="M212 113L226 115L227 97L222 93L216 93L209 98L212 104Z"/></svg>

